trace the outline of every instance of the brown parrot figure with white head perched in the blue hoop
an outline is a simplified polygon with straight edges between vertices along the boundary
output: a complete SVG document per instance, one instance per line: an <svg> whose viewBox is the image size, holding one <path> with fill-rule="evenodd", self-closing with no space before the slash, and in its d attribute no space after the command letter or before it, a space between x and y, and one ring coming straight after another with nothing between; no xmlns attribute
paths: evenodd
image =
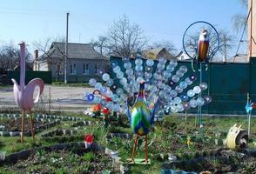
<svg viewBox="0 0 256 174"><path fill-rule="evenodd" d="M198 61L199 62L208 63L208 59L207 59L208 48L209 48L208 31L203 29L199 36L199 43L198 43Z"/></svg>

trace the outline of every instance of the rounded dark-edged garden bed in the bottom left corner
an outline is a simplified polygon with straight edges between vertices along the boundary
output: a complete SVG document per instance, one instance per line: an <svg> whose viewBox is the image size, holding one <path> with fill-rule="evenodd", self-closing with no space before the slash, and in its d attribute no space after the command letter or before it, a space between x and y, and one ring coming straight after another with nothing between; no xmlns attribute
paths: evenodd
<svg viewBox="0 0 256 174"><path fill-rule="evenodd" d="M112 171L112 159L97 144L84 150L83 143L56 144L21 151L5 157L3 173L103 173ZM47 167L46 167L47 166Z"/></svg>

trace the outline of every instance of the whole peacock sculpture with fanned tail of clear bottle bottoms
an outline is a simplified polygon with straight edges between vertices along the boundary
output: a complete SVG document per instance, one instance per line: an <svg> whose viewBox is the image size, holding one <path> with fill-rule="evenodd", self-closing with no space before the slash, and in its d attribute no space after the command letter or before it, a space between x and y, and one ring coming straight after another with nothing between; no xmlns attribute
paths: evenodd
<svg viewBox="0 0 256 174"><path fill-rule="evenodd" d="M123 58L121 64L111 64L112 75L104 73L104 83L91 78L89 84L105 97L88 94L88 100L101 104L109 110L126 114L132 131L136 134L131 161L138 143L138 137L145 137L145 163L148 163L147 134L154 120L170 112L182 112L209 104L212 97L198 94L207 89L207 84L195 84L196 76L185 76L187 67L174 59L164 57L158 60L145 58Z"/></svg>

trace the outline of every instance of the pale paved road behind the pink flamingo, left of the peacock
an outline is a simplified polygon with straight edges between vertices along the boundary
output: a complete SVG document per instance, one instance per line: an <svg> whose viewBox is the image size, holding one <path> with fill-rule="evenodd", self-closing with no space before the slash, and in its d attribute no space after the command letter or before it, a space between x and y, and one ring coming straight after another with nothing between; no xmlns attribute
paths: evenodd
<svg viewBox="0 0 256 174"><path fill-rule="evenodd" d="M92 91L92 88L83 87L57 87L52 85L45 85L44 93L38 106L45 105L49 108L49 98L51 89L51 109L52 110L71 110L84 111L89 107L84 101L84 91ZM37 95L37 92L34 93ZM0 89L0 109L17 108L14 101L12 86Z"/></svg>

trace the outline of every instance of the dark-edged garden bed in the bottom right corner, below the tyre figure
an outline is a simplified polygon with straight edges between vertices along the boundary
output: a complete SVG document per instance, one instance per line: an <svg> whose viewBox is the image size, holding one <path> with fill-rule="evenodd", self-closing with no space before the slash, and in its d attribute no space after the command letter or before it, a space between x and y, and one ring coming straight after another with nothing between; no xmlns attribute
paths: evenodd
<svg viewBox="0 0 256 174"><path fill-rule="evenodd" d="M182 158L163 165L161 173L171 171L211 171L212 173L256 173L256 151L215 151L212 156L205 155L191 159Z"/></svg>

